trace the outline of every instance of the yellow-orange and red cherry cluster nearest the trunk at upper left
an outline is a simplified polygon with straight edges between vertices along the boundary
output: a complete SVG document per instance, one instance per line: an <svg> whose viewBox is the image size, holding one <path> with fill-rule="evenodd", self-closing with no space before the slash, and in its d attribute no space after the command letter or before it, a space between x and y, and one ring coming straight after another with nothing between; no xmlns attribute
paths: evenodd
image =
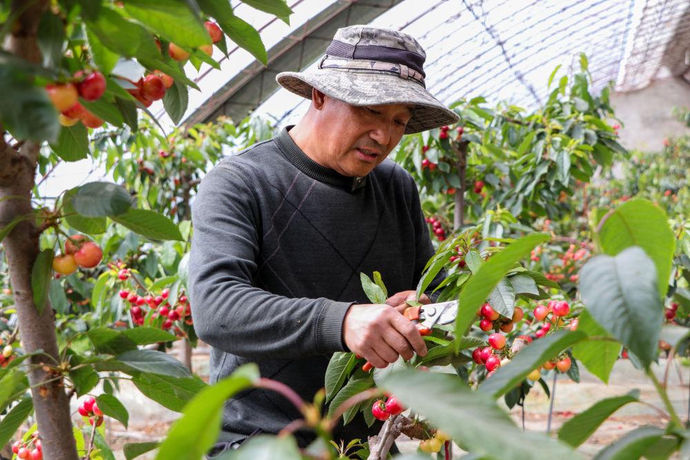
<svg viewBox="0 0 690 460"><path fill-rule="evenodd" d="M103 126L103 120L92 114L79 103L79 97L85 101L94 102L106 92L106 77L101 72L75 73L72 81L67 83L50 83L46 86L48 98L60 112L58 118L62 126L74 126L79 121L87 128Z"/></svg>

